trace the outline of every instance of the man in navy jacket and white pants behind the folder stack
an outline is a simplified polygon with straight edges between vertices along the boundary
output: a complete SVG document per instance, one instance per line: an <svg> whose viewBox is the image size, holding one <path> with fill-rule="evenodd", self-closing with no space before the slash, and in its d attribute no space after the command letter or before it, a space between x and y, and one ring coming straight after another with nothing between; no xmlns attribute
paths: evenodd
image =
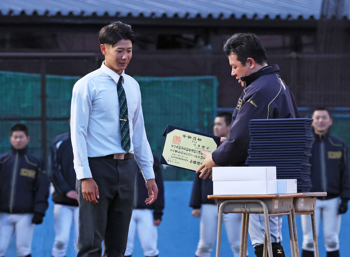
<svg viewBox="0 0 350 257"><path fill-rule="evenodd" d="M310 157L310 192L327 192L326 197L318 197L316 200L316 230L318 232L322 220L327 257L339 257L341 214L348 210L350 199L348 148L339 137L330 135L332 119L325 108L317 108L312 118L315 139ZM302 257L313 257L314 240L310 218L301 215L301 224Z"/></svg>

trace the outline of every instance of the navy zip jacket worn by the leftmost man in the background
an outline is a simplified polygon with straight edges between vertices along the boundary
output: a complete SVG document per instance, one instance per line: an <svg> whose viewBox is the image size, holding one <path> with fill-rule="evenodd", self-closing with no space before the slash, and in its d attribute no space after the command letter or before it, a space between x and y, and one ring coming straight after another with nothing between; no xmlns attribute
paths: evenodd
<svg viewBox="0 0 350 257"><path fill-rule="evenodd" d="M49 181L42 168L42 160L27 148L0 155L0 212L45 215Z"/></svg>

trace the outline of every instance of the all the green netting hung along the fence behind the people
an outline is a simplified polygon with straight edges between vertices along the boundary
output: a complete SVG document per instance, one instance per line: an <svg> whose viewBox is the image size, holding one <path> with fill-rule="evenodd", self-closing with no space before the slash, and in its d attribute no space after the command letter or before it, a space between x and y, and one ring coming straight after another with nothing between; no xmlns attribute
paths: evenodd
<svg viewBox="0 0 350 257"><path fill-rule="evenodd" d="M47 75L46 127L47 154L52 139L69 130L68 118L72 88L79 77ZM216 113L218 81L212 76L203 77L135 77L142 94L145 127L152 151L160 156L164 142L162 136L168 124L212 133ZM3 91L0 118L23 117L31 137L29 149L42 155L41 121L26 121L26 117L40 118L41 79L38 74L0 72ZM9 85L9 86L5 86ZM18 121L2 121L0 152L9 150L9 129ZM47 156L48 157L48 156ZM166 180L192 179L193 172L167 167Z"/></svg>

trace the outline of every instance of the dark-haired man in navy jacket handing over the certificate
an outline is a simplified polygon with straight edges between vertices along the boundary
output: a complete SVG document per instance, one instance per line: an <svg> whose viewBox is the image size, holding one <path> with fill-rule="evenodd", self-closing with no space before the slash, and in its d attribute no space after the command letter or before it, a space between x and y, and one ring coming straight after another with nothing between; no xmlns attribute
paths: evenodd
<svg viewBox="0 0 350 257"><path fill-rule="evenodd" d="M250 33L236 33L224 45L224 52L232 67L231 75L243 86L236 109L232 114L229 137L206 156L196 171L200 177L211 177L215 166L244 166L249 149L249 120L297 118L299 113L293 94L279 75L278 65L267 65L266 52L260 40ZM249 234L255 254L262 256L264 246L264 220L261 214L251 214ZM281 217L270 218L273 256L284 256L280 245Z"/></svg>

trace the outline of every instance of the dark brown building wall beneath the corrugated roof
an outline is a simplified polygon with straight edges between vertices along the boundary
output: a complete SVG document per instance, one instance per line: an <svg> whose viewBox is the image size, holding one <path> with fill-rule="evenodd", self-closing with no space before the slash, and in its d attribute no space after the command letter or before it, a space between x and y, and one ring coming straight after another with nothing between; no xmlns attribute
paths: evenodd
<svg viewBox="0 0 350 257"><path fill-rule="evenodd" d="M115 20L131 24L137 35L128 74L214 75L220 83L218 108L236 106L242 90L230 76L222 51L236 32L252 32L261 39L268 64L279 64L299 106L349 106L350 22L346 19L0 15L0 70L84 76L103 61L99 29Z"/></svg>

